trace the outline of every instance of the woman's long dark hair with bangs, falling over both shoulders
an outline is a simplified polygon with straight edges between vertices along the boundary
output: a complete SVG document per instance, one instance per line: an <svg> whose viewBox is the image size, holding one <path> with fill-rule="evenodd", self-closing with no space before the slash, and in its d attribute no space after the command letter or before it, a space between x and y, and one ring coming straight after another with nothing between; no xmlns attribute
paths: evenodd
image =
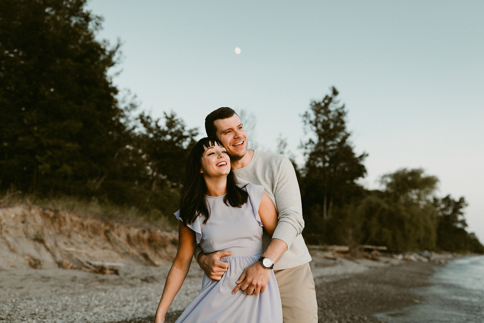
<svg viewBox="0 0 484 323"><path fill-rule="evenodd" d="M201 138L188 155L180 199L180 217L185 225L195 221L198 215L205 216L204 224L210 217L210 210L205 202L207 186L200 169L202 168L202 154L205 152L204 146L209 148L215 144L223 147L217 138ZM247 192L237 186L237 178L234 172L230 170L227 175L227 195L224 197L224 203L233 207L242 207L247 202L247 197Z"/></svg>

